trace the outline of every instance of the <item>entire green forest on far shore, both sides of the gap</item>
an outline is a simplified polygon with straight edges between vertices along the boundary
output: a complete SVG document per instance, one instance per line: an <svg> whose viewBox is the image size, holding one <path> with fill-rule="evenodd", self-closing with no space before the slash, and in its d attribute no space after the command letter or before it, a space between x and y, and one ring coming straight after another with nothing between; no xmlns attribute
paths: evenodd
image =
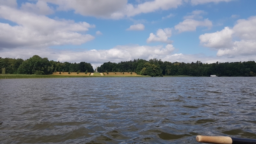
<svg viewBox="0 0 256 144"><path fill-rule="evenodd" d="M0 73L2 74L35 74L49 75L52 72L94 72L90 63L56 62L34 55L23 60L20 58L0 58ZM183 63L169 62L161 59L130 60L119 63L106 62L98 67L98 72L136 72L139 75L151 77L163 75L188 76L256 76L255 61L219 63Z"/></svg>

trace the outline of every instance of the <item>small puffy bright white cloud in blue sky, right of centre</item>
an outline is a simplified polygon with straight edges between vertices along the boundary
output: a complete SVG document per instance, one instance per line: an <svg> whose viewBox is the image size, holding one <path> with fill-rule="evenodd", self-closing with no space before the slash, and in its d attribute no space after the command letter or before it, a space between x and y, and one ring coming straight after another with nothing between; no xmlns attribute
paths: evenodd
<svg viewBox="0 0 256 144"><path fill-rule="evenodd" d="M168 39L171 36L172 36L172 29L170 28L158 29L157 35L150 33L147 39L147 43L151 43L151 42L172 43L172 40Z"/></svg>

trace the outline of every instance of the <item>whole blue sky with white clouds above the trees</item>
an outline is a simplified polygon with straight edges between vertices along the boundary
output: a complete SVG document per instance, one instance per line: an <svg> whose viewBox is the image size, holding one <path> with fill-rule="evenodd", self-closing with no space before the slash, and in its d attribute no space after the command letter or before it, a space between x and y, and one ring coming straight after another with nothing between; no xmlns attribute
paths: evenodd
<svg viewBox="0 0 256 144"><path fill-rule="evenodd" d="M256 60L256 0L0 0L0 57Z"/></svg>

